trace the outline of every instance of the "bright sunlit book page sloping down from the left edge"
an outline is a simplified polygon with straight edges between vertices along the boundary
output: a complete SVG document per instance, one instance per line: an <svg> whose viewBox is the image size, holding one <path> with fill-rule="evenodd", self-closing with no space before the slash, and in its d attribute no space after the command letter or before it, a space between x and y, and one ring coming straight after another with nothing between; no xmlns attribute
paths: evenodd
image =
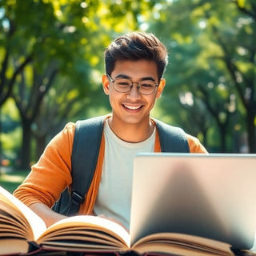
<svg viewBox="0 0 256 256"><path fill-rule="evenodd" d="M38 217L29 207L23 204L18 198L15 198L10 192L5 190L0 186L0 202L5 202L6 205L10 206L12 210L9 211L9 214L17 214L19 218L26 218L26 221L30 224L30 229L34 238L37 238L39 234L42 234L46 230L46 224L42 221L42 218ZM1 204L0 204L1 210Z"/></svg>

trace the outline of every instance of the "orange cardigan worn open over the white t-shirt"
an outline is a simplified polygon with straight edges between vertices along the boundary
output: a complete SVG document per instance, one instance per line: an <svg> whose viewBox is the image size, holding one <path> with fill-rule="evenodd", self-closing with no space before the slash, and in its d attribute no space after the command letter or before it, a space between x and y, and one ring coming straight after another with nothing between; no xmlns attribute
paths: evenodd
<svg viewBox="0 0 256 256"><path fill-rule="evenodd" d="M75 125L66 124L65 128L57 134L46 146L42 157L32 166L30 174L24 182L14 191L14 196L27 206L35 202L43 202L46 206L53 206L66 186L72 182L71 152L73 147ZM198 141L198 138L186 134L190 146L190 153L207 153ZM79 214L92 214L94 202L98 194L98 187L102 177L102 164L104 159L105 139L102 136L98 162L86 200L79 210ZM161 152L158 131L156 133L154 152Z"/></svg>

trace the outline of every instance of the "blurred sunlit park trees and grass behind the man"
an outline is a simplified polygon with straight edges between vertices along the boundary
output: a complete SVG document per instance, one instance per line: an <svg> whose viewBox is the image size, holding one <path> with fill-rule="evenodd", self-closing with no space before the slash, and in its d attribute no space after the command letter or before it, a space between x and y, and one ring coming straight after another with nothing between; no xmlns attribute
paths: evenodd
<svg viewBox="0 0 256 256"><path fill-rule="evenodd" d="M66 122L110 112L103 53L134 30L169 52L152 116L210 153L256 153L255 0L0 0L0 185L22 182Z"/></svg>

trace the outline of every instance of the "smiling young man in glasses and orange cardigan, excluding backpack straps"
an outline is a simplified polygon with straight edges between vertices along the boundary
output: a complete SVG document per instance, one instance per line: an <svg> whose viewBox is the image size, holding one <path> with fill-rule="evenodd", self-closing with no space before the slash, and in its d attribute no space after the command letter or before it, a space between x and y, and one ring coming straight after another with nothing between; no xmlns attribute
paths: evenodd
<svg viewBox="0 0 256 256"><path fill-rule="evenodd" d="M105 52L104 93L112 113L106 116L94 179L79 214L105 215L129 228L133 160L138 152L161 151L156 120L150 111L166 81L166 47L153 34L134 32L117 38ZM46 225L66 218L51 210L70 186L74 123L68 123L46 147L14 195ZM190 153L206 153L197 138L186 134Z"/></svg>

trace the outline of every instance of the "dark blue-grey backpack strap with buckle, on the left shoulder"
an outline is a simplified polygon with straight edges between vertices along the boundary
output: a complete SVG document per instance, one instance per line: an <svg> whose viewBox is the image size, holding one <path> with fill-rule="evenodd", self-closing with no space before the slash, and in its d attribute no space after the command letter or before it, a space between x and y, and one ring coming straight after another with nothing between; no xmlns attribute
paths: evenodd
<svg viewBox="0 0 256 256"><path fill-rule="evenodd" d="M76 122L71 154L72 184L69 214L78 212L94 177L104 118L101 116Z"/></svg>

